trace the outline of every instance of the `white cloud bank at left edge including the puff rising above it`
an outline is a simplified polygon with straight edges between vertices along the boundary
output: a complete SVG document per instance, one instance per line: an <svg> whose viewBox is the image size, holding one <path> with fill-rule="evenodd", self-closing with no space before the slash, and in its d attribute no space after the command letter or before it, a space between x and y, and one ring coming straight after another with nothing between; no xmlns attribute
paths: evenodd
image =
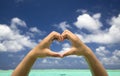
<svg viewBox="0 0 120 76"><path fill-rule="evenodd" d="M26 47L33 48L37 44L29 35L21 34L22 30L18 29L18 26L27 27L26 23L19 18L13 18L11 25L0 24L0 52L17 52Z"/></svg>

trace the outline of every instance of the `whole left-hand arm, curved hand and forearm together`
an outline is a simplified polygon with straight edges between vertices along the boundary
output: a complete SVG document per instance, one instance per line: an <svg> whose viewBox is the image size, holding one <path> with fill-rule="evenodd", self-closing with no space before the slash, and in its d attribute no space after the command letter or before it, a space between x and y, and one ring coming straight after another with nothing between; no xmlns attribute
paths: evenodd
<svg viewBox="0 0 120 76"><path fill-rule="evenodd" d="M28 76L30 69L37 58L43 57L61 57L60 54L50 50L50 44L53 40L62 40L62 37L57 32L51 32L47 37L45 37L35 48L33 48L25 58L20 62L20 64L13 71L12 76Z"/></svg>

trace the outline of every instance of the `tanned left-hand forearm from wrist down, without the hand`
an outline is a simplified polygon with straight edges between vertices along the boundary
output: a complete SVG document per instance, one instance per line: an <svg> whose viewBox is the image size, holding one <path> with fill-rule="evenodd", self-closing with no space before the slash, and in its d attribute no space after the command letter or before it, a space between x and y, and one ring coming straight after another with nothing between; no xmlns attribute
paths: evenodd
<svg viewBox="0 0 120 76"><path fill-rule="evenodd" d="M21 63L16 67L13 71L12 76L28 76L29 71L36 61L37 58L32 57L32 51L30 51L25 58L21 61Z"/></svg>

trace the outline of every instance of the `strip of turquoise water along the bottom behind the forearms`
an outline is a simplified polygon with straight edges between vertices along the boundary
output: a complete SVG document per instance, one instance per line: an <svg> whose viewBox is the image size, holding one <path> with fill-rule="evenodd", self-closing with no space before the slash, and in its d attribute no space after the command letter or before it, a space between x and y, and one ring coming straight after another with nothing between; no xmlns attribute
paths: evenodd
<svg viewBox="0 0 120 76"><path fill-rule="evenodd" d="M0 76L10 76L13 70L0 70ZM109 76L120 76L120 70L107 70ZM90 70L48 69L31 70L29 76L92 76Z"/></svg>

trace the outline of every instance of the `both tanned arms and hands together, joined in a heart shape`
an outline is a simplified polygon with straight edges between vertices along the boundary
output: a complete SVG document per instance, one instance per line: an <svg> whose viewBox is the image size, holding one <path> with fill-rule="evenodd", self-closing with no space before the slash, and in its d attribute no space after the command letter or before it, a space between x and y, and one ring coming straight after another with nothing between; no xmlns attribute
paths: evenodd
<svg viewBox="0 0 120 76"><path fill-rule="evenodd" d="M72 44L69 51L59 54L50 50L50 44L53 40L63 41L64 39L70 40ZM25 56L13 71L12 76L28 76L31 67L37 58L48 56L64 57L68 55L84 56L90 67L92 76L108 76L105 68L99 62L92 50L69 30L65 30L62 34L55 31L51 32Z"/></svg>

